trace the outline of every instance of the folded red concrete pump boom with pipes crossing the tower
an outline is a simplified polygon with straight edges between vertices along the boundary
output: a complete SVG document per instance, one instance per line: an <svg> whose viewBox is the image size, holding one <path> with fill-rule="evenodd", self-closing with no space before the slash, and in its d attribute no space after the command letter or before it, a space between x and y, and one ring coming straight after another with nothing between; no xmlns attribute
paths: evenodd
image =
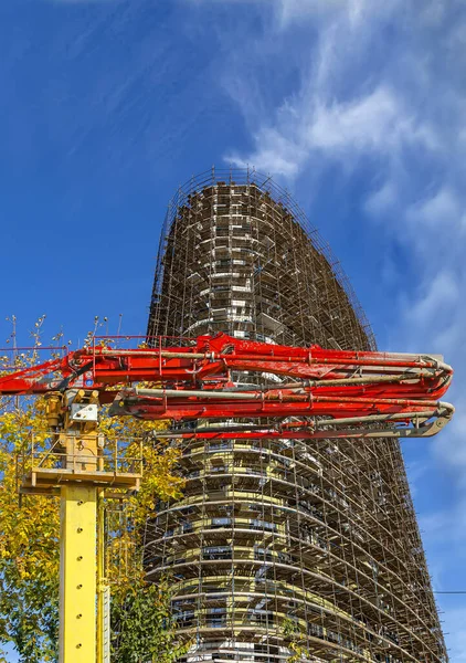
<svg viewBox="0 0 466 663"><path fill-rule="evenodd" d="M241 389L232 373L236 381L242 373L248 381L262 373L268 383ZM158 348L83 348L0 377L0 394L86 387L99 391L100 402L112 402L116 394L107 388L118 385L124 389L110 410L117 415L178 421L327 417L358 425L359 436L361 428L372 430L369 424L378 422L386 428L388 421L390 430L400 430L401 422L414 435L421 429L427 434L424 421L434 418L444 425L452 417L453 407L438 401L452 375L441 359L424 355L297 348L219 334L200 336L188 347L162 347L160 339ZM134 388L141 381L160 388ZM428 434L441 428L431 423ZM311 436L318 428L326 432L321 422L307 421L306 428Z"/></svg>

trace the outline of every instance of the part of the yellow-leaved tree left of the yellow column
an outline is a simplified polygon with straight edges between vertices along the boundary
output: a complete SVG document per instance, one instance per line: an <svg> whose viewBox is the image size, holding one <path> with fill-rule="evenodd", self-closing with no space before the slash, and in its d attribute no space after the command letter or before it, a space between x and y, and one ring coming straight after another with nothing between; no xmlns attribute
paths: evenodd
<svg viewBox="0 0 466 663"><path fill-rule="evenodd" d="M24 497L19 506L19 459L31 432L46 436L32 402L0 417L0 642L39 663L56 659L60 518L56 499Z"/></svg>

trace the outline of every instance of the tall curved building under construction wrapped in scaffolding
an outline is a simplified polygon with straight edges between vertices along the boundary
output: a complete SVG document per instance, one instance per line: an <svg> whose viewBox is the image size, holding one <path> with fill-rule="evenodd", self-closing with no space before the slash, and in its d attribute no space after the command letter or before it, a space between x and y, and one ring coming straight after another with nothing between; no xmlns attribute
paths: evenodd
<svg viewBox="0 0 466 663"><path fill-rule="evenodd" d="M255 171L192 179L162 230L148 335L216 332L375 349L328 246ZM398 440L198 436L180 471L145 559L172 580L182 661L447 661Z"/></svg>

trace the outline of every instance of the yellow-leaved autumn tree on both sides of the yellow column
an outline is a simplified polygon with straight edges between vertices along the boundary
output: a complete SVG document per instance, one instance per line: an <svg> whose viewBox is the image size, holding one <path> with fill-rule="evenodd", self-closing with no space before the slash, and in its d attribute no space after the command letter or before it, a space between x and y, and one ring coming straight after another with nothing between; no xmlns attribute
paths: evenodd
<svg viewBox="0 0 466 663"><path fill-rule="evenodd" d="M36 355L15 356L18 367ZM21 457L31 435L46 444L47 424L40 398L2 399L0 403L0 644L14 645L28 663L57 660L60 508L56 497L18 497ZM125 507L125 526L108 518L108 580L113 590L114 660L118 663L171 663L183 651L170 617L168 585L144 579L140 536L156 499L178 497L178 451L157 441L160 423L110 419L103 411L100 430L112 442L142 436L145 474L137 496ZM0 661L1 661L0 651ZM4 652L3 652L4 654Z"/></svg>

